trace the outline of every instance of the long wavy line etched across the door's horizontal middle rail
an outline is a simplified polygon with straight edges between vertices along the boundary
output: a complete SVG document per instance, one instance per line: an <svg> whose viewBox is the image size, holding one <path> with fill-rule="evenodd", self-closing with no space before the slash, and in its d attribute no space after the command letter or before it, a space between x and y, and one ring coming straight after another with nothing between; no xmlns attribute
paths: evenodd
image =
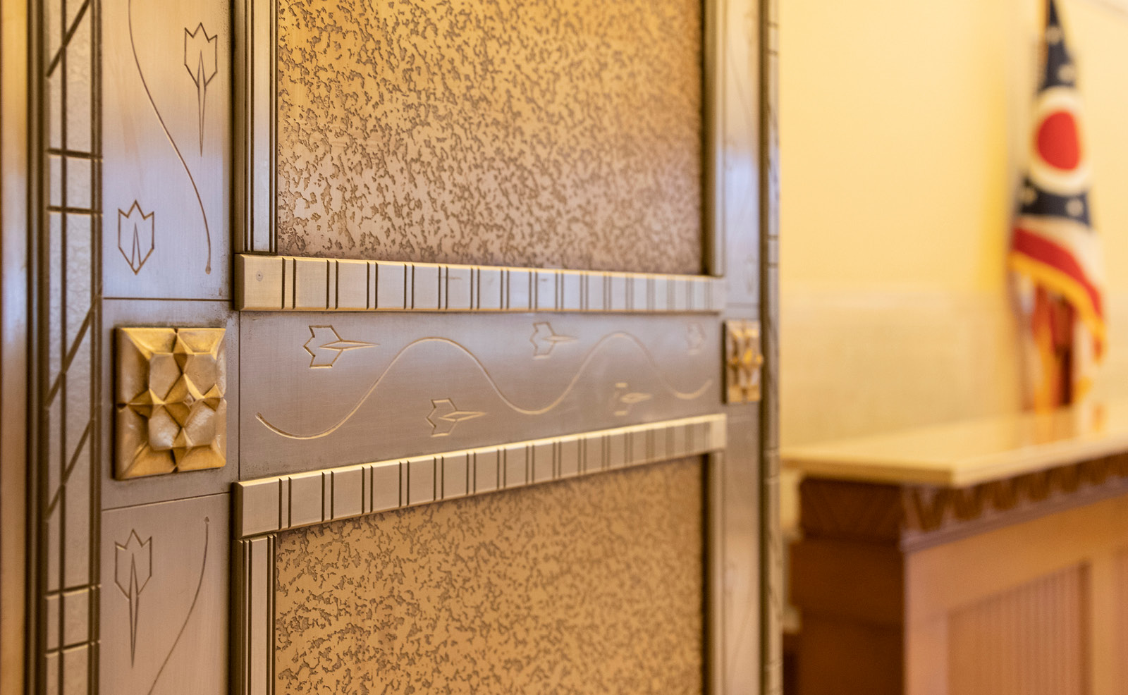
<svg viewBox="0 0 1128 695"><path fill-rule="evenodd" d="M356 405L354 405L352 407L352 410L350 410L347 413L345 413L344 417L342 417L341 420L338 420L336 422L336 424L333 424L328 429L321 430L320 432L315 432L312 434L296 434L293 432L287 432L285 430L283 430L283 429L281 429L281 428L279 428L279 426L276 426L274 424L271 424L271 422L268 420L266 420L266 417L264 417L262 413L255 413L255 417L258 420L258 422L263 423L263 425L267 430L274 432L275 434L277 434L280 437L285 437L287 439L310 440L310 439L321 439L323 437L328 437L329 434L336 432L342 426L344 426L344 424L346 422L349 422L349 420L352 419L352 416L355 415L360 411L361 406L363 406L364 403L368 402L368 399L372 395L372 393L376 392L376 389L377 389L378 386L380 386L380 382L384 380L384 378L386 376L388 376L388 372L391 371L391 369L396 366L396 363L400 359L403 359L403 357L407 352L409 352L413 348L415 348L417 345L423 345L423 344L426 344L426 343L444 343L444 344L451 345L451 346L458 349L459 351L461 351L462 353L465 353L468 358L470 358L474 361L475 364L477 364L478 369L482 370L482 373L486 378L486 382L490 384L490 388L493 389L494 394L496 394L497 397L501 398L502 402L505 403L505 405L509 406L514 412L518 412L518 413L520 413L522 415L544 415L545 413L552 411L557 405L559 405L561 403L563 403L565 398L567 398L569 394L572 393L572 390L575 388L576 384L580 382L580 377L583 376L583 372L588 368L588 364L591 363L591 361L594 359L594 357L599 352L599 350L603 345L606 345L607 343L609 343L611 341L627 341L627 342L632 343L633 345L635 345L638 349L638 351L642 352L643 355L646 358L646 362L650 364L650 367L658 375L659 379L662 380L662 385L666 386L667 390L669 390L671 394L673 394L673 396L676 398L678 398L679 401L694 401L696 398L699 398L713 385L713 379L708 379L707 381L705 381L705 384L703 384L696 390L693 390L693 392L681 392L681 390L678 390L677 387L675 387L672 384L670 384L670 381L666 378L666 376L662 375L662 370L658 366L658 362L654 360L654 355L652 355L650 353L650 350L646 349L646 345L644 345L642 341L640 341L634 335L631 335L629 333L617 332L617 333L610 333L608 335L605 335L603 337L599 338L598 343L596 343L594 345L592 345L591 350L588 351L588 354L584 355L583 361L580 363L579 369L576 369L575 376L572 377L572 380L569 381L569 384L567 384L566 387L564 387L564 390L561 393L559 396L557 396L553 401L550 401L547 404L541 405L539 407L523 407L521 405L518 405L517 403L513 403L513 401L511 401L504 393L502 393L501 388L497 386L497 382L494 381L493 377L490 376L490 370L486 369L486 366L483 364L482 360L479 360L477 358L477 355L475 355L473 352L470 352L467 348L465 348L460 343L457 343L457 342L455 342L455 341L452 341L450 338L428 336L428 337L421 337L418 340L412 341L411 343L408 343L407 345L405 345L399 352L397 352L396 357L391 358L391 361L388 363L388 366L385 368L385 370L382 372L380 372L380 376L378 376L376 378L376 381L372 382L372 386L370 386L369 389L367 392L364 392L364 395L360 397L360 401L356 402Z"/></svg>

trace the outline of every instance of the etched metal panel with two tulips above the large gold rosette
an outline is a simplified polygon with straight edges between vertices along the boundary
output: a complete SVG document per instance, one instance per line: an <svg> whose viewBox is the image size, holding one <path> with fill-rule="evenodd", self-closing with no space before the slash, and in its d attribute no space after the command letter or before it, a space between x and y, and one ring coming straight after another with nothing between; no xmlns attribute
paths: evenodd
<svg viewBox="0 0 1128 695"><path fill-rule="evenodd" d="M229 5L100 5L105 294L228 298Z"/></svg>

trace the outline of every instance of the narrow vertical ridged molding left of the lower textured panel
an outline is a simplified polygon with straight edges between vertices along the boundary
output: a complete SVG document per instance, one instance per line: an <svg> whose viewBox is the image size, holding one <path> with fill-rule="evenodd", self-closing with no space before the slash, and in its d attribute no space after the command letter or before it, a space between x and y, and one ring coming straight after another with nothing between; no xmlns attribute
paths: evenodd
<svg viewBox="0 0 1128 695"><path fill-rule="evenodd" d="M275 535L232 544L231 692L274 695Z"/></svg>

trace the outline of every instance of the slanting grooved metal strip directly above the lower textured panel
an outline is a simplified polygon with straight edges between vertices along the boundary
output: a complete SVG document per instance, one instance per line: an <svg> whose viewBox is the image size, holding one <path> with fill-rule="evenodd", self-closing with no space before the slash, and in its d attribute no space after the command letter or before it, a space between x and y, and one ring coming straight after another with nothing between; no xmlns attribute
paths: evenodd
<svg viewBox="0 0 1128 695"><path fill-rule="evenodd" d="M235 537L719 451L726 417L535 439L235 483Z"/></svg>

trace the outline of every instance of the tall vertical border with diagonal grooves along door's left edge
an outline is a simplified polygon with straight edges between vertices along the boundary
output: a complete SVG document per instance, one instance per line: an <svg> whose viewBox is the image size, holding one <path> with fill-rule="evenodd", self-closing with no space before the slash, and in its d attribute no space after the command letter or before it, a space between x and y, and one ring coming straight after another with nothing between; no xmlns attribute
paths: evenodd
<svg viewBox="0 0 1128 695"><path fill-rule="evenodd" d="M98 689L102 507L102 6L49 0L29 7L34 570L27 676L30 692L89 694ZM65 630L64 602L68 612L86 614L85 631Z"/></svg>

